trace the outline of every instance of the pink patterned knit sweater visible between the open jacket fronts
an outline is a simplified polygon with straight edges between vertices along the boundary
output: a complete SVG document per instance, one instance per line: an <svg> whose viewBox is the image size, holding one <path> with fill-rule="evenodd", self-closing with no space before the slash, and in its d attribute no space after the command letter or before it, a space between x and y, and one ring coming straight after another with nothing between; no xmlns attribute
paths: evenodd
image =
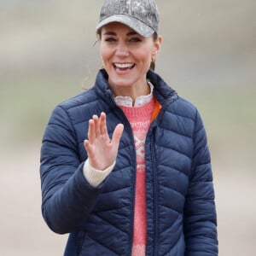
<svg viewBox="0 0 256 256"><path fill-rule="evenodd" d="M145 138L152 119L154 97L139 107L119 106L131 124L136 145L137 175L134 209L134 231L132 256L146 255L147 218L146 218L146 189L145 189Z"/></svg>

